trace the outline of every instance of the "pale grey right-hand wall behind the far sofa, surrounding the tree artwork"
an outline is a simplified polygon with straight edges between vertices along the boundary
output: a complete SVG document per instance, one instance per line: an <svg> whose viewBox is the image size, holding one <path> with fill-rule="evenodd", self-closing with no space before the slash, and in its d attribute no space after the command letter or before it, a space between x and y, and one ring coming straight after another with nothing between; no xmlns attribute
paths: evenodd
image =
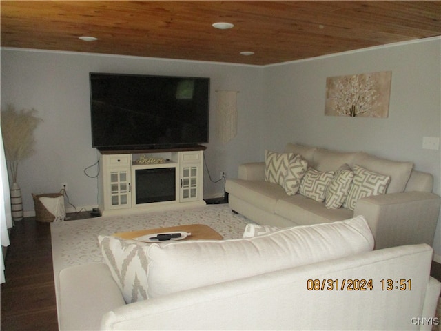
<svg viewBox="0 0 441 331"><path fill-rule="evenodd" d="M382 71L392 72L387 119L325 116L327 77ZM423 137L441 136L440 38L269 66L265 89L267 140L262 148L283 150L291 141L413 161L416 170L433 174L434 192L440 194L440 150L422 149Z"/></svg>

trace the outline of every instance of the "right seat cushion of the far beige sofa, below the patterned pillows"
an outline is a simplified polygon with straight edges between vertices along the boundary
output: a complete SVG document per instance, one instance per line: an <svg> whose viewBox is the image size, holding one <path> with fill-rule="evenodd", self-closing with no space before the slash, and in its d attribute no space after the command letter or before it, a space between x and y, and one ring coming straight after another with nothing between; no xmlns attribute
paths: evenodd
<svg viewBox="0 0 441 331"><path fill-rule="evenodd" d="M328 209L325 203L320 203L304 197L302 194L289 196L276 203L275 213L280 217L289 219L297 225L311 225L316 223L329 223L342 221L353 217L353 211L347 208Z"/></svg>

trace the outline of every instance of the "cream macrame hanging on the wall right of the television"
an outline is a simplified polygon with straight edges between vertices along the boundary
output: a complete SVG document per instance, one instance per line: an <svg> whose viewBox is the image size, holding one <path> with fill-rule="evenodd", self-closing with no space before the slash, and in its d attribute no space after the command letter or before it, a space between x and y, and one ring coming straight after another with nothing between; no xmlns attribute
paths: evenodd
<svg viewBox="0 0 441 331"><path fill-rule="evenodd" d="M218 104L216 109L217 134L223 143L236 137L237 132L237 91L216 91Z"/></svg>

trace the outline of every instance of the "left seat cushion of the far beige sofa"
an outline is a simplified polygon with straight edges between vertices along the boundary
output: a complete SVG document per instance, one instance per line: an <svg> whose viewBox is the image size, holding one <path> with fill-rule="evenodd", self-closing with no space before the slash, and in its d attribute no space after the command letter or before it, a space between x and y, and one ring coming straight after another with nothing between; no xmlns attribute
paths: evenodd
<svg viewBox="0 0 441 331"><path fill-rule="evenodd" d="M271 214L274 214L277 201L287 196L280 185L267 181L229 179L225 183L225 190Z"/></svg>

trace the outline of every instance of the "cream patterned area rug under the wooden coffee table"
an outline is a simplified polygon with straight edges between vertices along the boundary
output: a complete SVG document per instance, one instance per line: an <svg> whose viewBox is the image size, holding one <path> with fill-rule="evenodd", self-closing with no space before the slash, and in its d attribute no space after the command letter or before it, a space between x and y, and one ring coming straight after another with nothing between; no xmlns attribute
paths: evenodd
<svg viewBox="0 0 441 331"><path fill-rule="evenodd" d="M70 265L103 262L98 245L99 234L205 224L220 233L224 239L236 239L242 237L247 223L252 221L233 214L227 204L51 223L55 279L58 279L60 270Z"/></svg>

